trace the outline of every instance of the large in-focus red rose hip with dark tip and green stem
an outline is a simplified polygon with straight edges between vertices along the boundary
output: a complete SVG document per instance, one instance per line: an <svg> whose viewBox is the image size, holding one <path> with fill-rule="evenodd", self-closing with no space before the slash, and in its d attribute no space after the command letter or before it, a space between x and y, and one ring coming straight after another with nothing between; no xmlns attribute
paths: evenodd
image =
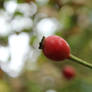
<svg viewBox="0 0 92 92"><path fill-rule="evenodd" d="M62 37L55 35L46 38L43 37L42 41L40 42L39 49L42 49L44 55L51 60L61 61L69 59L92 69L92 64L70 53L70 47Z"/></svg>

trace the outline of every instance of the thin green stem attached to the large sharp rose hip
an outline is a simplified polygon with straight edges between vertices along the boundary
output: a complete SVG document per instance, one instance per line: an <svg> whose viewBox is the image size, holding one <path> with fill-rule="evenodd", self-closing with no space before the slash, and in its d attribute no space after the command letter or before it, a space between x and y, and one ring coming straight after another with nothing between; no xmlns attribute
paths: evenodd
<svg viewBox="0 0 92 92"><path fill-rule="evenodd" d="M90 64L90 63L88 63L88 62L86 62L86 61L84 61L84 60L82 60L82 59L80 59L72 54L70 55L69 59L72 61L76 61L76 63L79 63L81 65L84 65L84 66L92 69L92 64Z"/></svg>

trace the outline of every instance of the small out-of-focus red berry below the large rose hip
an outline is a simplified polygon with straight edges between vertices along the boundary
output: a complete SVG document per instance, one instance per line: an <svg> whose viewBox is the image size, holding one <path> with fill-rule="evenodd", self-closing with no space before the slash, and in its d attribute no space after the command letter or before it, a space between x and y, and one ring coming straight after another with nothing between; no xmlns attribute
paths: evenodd
<svg viewBox="0 0 92 92"><path fill-rule="evenodd" d="M75 77L75 69L71 66L66 66L63 69L63 75L66 79L70 80Z"/></svg>

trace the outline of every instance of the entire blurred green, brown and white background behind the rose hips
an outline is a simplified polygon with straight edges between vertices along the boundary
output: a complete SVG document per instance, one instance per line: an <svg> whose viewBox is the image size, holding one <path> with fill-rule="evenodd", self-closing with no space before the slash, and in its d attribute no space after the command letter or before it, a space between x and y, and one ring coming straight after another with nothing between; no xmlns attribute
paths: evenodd
<svg viewBox="0 0 92 92"><path fill-rule="evenodd" d="M0 92L92 92L92 70L47 59L42 37L58 35L92 63L92 0L0 0ZM72 80L65 65L76 70Z"/></svg>

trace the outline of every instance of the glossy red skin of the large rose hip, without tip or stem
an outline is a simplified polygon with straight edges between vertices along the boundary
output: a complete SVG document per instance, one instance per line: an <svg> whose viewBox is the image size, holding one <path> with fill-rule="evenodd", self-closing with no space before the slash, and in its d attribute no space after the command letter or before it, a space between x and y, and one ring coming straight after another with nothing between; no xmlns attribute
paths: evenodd
<svg viewBox="0 0 92 92"><path fill-rule="evenodd" d="M68 43L59 36L49 36L43 41L43 53L54 61L61 61L69 58L70 47Z"/></svg>

